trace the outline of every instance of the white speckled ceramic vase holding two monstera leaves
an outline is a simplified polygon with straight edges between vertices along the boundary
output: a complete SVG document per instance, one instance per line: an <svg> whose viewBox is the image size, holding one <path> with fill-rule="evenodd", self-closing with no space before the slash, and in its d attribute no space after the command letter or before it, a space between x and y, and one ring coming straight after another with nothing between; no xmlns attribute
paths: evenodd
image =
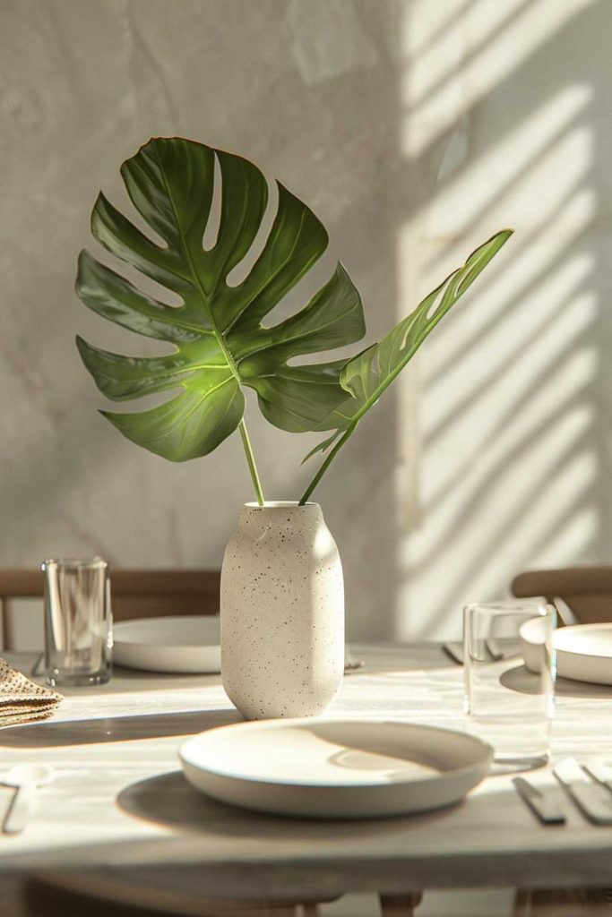
<svg viewBox="0 0 612 917"><path fill-rule="evenodd" d="M344 584L318 503L247 503L221 569L221 673L248 720L316 716L344 672Z"/></svg>

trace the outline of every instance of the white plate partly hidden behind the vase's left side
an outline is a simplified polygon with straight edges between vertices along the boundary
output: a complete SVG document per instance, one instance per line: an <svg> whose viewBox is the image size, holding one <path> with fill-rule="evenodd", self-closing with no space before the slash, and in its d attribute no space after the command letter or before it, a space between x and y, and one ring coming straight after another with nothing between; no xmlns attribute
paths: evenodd
<svg viewBox="0 0 612 917"><path fill-rule="evenodd" d="M113 627L113 641L118 666L181 674L221 670L218 615L122 621Z"/></svg>

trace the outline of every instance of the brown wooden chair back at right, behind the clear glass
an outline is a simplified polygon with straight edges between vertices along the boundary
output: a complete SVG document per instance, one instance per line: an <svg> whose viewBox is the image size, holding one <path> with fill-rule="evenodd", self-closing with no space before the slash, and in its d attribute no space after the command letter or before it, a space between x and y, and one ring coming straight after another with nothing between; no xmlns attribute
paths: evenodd
<svg viewBox="0 0 612 917"><path fill-rule="evenodd" d="M511 589L518 599L562 599L579 624L612 621L612 567L529 570L512 580Z"/></svg>

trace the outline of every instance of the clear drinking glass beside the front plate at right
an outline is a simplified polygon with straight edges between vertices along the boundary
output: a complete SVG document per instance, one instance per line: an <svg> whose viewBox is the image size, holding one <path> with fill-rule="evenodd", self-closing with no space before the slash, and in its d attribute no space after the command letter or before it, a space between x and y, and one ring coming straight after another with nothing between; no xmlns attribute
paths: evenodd
<svg viewBox="0 0 612 917"><path fill-rule="evenodd" d="M464 610L468 728L494 747L501 769L538 768L548 760L555 626L555 610L544 600L487 602Z"/></svg>

